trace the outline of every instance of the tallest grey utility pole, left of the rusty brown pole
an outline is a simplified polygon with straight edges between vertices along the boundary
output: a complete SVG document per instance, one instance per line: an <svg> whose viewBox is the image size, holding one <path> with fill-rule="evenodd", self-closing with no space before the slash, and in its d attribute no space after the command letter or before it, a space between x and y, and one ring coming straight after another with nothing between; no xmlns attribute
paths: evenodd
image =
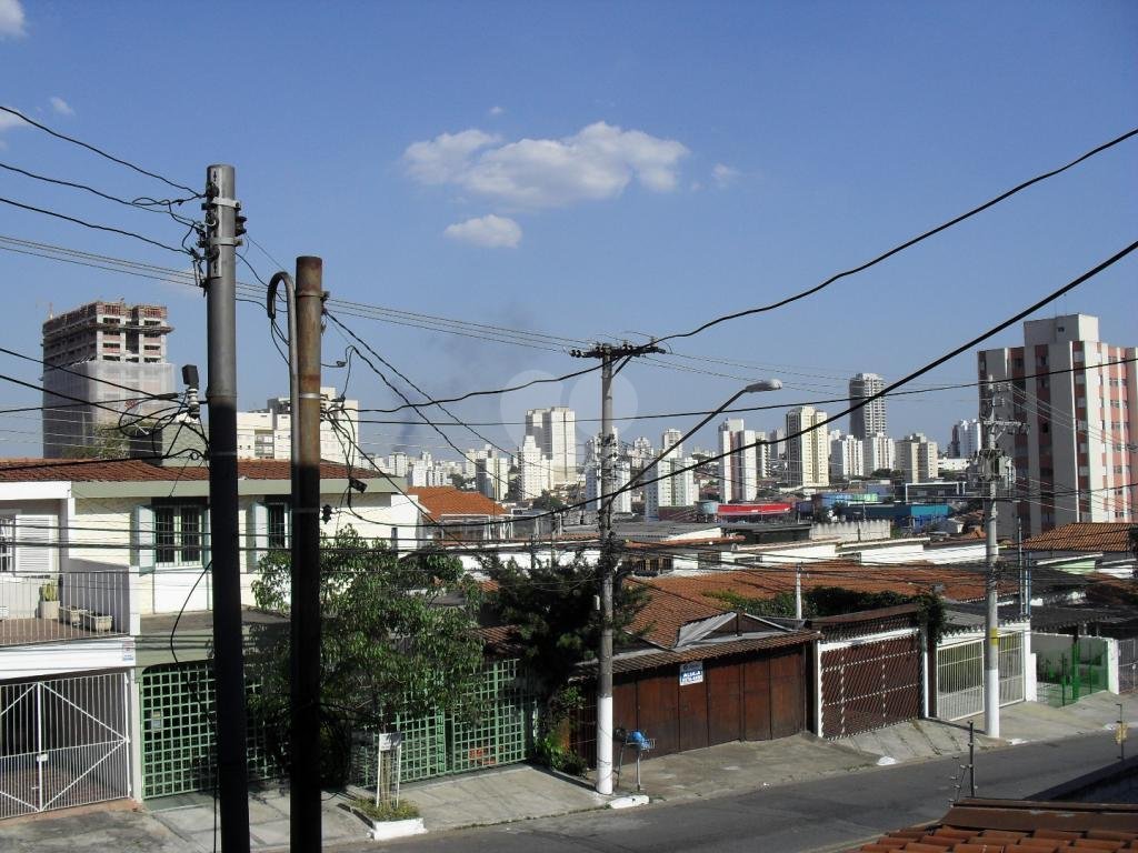
<svg viewBox="0 0 1138 853"><path fill-rule="evenodd" d="M213 561L214 674L217 720L217 798L221 848L248 853L245 651L237 507L237 247L232 166L206 168L206 345L209 406L209 538ZM240 229L240 230L239 230Z"/></svg>

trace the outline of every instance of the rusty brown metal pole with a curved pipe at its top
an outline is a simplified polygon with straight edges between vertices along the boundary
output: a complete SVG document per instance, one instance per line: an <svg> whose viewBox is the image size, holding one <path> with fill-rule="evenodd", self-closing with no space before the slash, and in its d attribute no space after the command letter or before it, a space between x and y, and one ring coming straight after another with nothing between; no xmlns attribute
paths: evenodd
<svg viewBox="0 0 1138 853"><path fill-rule="evenodd" d="M320 321L323 262L296 259L297 374L292 412L291 782L294 853L321 846L320 773Z"/></svg>

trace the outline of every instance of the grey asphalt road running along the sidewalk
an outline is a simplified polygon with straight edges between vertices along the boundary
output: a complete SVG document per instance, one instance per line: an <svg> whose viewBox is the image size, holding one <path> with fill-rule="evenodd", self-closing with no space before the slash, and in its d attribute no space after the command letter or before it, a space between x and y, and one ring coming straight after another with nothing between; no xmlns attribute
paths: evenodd
<svg viewBox="0 0 1138 853"><path fill-rule="evenodd" d="M1111 764L1108 735L1025 744L978 755L976 795L1026 798ZM743 795L660 803L384 845L399 853L691 853L843 850L889 829L933 820L953 796L956 759L880 768ZM374 851L374 846L345 850Z"/></svg>

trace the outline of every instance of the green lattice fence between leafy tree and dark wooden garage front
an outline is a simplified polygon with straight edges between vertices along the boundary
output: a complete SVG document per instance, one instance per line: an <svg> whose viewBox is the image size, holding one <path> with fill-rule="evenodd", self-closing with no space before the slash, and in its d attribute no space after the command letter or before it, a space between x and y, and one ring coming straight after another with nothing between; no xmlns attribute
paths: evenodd
<svg viewBox="0 0 1138 853"><path fill-rule="evenodd" d="M488 665L481 684L465 701L478 712L472 721L442 711L396 720L395 728L403 734L403 781L501 767L529 757L537 702L519 661ZM376 785L377 740L378 732L373 732L371 744L353 750L353 784Z"/></svg>

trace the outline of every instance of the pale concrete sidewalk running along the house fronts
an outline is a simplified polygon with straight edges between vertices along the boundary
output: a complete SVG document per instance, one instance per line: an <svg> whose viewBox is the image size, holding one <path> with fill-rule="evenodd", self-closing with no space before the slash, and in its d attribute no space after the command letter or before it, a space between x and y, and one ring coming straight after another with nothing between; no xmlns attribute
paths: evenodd
<svg viewBox="0 0 1138 853"><path fill-rule="evenodd" d="M1005 748L1094 731L1111 737L1119 702L1123 703L1123 719L1138 730L1138 695L1103 693L1063 709L1036 703L1006 707L999 740L980 734L983 720L976 719L976 748ZM797 735L665 755L642 763L641 781L653 801L715 797L875 765L960 755L967 743L966 720L963 724L915 720L842 740ZM635 790L635 762L630 752L625 757L619 793ZM415 782L404 786L404 795L419 805L427 829L432 831L553 817L599 809L607 802L585 780L528 764ZM324 803L325 845L365 839L363 823L340 808L343 802L343 797L329 795ZM254 850L287 848L287 788L266 787L253 794L249 819ZM0 823L0 850L5 853L208 853L214 850L213 842L213 800L208 795L151 801L139 811L96 808Z"/></svg>

